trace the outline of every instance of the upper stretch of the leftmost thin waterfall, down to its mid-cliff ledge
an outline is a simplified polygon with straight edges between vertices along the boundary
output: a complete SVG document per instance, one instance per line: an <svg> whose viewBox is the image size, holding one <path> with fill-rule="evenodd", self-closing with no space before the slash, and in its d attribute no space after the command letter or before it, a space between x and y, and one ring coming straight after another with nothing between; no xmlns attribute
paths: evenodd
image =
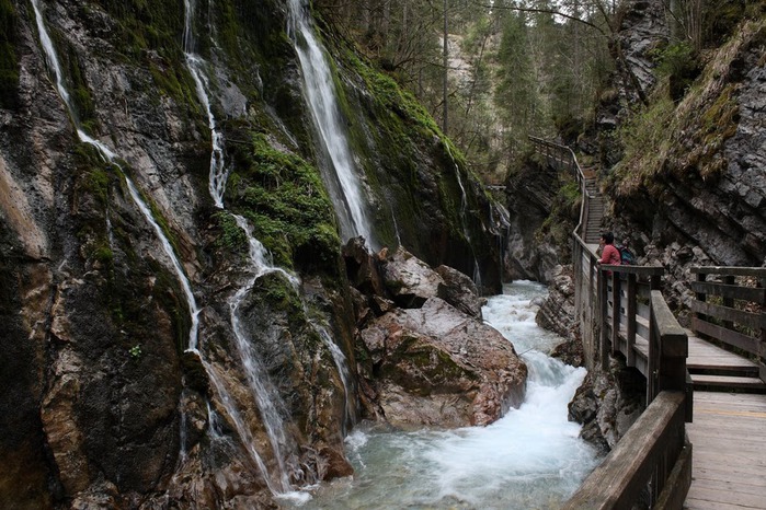
<svg viewBox="0 0 766 510"><path fill-rule="evenodd" d="M69 115L72 118L75 129L77 130L79 139L84 143L93 146L101 153L102 158L104 158L107 162L115 164L117 167L119 167L119 170L123 173L123 176L125 177L125 183L127 184L130 198L133 199L134 204L138 207L138 209L141 211L144 217L147 219L149 224L151 224L151 227L155 229L155 232L157 233L157 236L162 244L162 250L170 258L173 273L175 273L179 282L181 283L184 297L186 298L188 312L192 316L192 325L188 331L188 347L190 349L195 350L197 348L197 332L199 328L199 309L197 308L196 300L194 299L194 293L192 292L192 286L188 282L188 278L186 278L186 274L184 273L181 266L181 262L175 256L175 252L173 251L173 247L170 244L168 236L164 234L162 228L155 220L151 210L141 198L140 194L138 193L138 189L133 184L133 181L125 174L123 167L117 163L117 154L115 154L112 151L112 149L106 147L104 143L91 138L90 136L88 136L88 134L85 134L82 130L82 127L80 126L80 121L77 116L77 109L75 108L75 105L71 102L71 96L64 84L64 74L61 72L61 66L59 63L58 55L56 54L56 49L54 48L53 42L50 40L50 35L48 34L48 31L45 26L45 22L43 20L43 12L39 9L39 0L32 0L32 7L35 11L35 21L37 23L37 32L39 33L39 40L43 45L43 50L45 51L48 66L56 76L56 90L61 96L61 101L64 102L64 105L66 106L67 111L69 112Z"/></svg>

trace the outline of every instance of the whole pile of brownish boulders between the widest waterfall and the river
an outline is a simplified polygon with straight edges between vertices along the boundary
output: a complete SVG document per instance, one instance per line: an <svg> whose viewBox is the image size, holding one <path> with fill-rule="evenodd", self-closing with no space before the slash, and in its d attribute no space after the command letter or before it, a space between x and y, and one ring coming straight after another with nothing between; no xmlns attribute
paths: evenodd
<svg viewBox="0 0 766 510"><path fill-rule="evenodd" d="M433 270L402 247L370 258L378 258L386 292L364 297L377 313L361 315L357 340L370 417L401 427L464 427L491 424L521 404L526 366L481 321L467 276Z"/></svg>

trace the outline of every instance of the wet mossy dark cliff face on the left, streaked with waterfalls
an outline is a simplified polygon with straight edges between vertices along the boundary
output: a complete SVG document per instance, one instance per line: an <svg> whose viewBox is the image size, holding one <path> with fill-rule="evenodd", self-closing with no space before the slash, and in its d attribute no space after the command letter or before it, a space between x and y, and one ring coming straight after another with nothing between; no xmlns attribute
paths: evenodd
<svg viewBox="0 0 766 510"><path fill-rule="evenodd" d="M263 507L348 472L355 315L287 7L210 5L225 207L182 2L0 1L0 507ZM382 242L498 288L460 157L327 40Z"/></svg>

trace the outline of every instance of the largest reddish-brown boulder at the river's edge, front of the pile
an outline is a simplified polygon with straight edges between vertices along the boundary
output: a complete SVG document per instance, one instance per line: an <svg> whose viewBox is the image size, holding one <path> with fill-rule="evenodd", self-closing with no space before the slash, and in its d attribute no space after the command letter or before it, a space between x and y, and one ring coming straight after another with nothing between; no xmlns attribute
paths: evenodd
<svg viewBox="0 0 766 510"><path fill-rule="evenodd" d="M439 298L376 318L361 338L392 425L488 425L523 399L527 368L513 345Z"/></svg>

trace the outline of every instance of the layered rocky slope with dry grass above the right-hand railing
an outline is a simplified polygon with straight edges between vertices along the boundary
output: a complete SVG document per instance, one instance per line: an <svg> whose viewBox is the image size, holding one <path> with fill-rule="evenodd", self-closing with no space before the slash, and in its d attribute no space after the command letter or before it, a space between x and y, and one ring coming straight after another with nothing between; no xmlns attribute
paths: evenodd
<svg viewBox="0 0 766 510"><path fill-rule="evenodd" d="M626 39L656 47L662 39L652 38L655 32L626 30ZM658 83L643 115L663 136L644 140L640 150L628 148L607 171L616 237L627 240L641 263L668 269L666 287L678 309L688 295L689 265L766 260L765 34L763 15L740 19L719 47L702 51L698 76L675 103L662 98ZM672 88L673 77L667 81L663 86Z"/></svg>

